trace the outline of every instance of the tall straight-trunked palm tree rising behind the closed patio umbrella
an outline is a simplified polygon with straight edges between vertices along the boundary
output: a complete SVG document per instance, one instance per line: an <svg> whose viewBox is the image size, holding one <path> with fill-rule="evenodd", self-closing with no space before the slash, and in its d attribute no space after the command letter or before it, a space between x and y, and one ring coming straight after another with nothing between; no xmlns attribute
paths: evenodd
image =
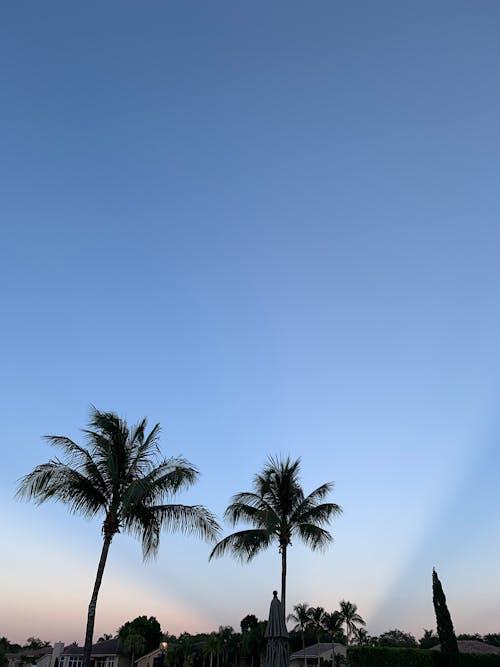
<svg viewBox="0 0 500 667"><path fill-rule="evenodd" d="M270 457L262 472L255 475L253 491L237 493L224 517L234 527L247 521L254 528L228 535L212 549L209 559L226 552L247 562L271 544L277 544L281 554L281 605L286 618L287 549L292 537L299 537L314 549L325 548L333 538L323 527L341 513L335 503L322 503L333 489L327 482L304 496L299 481L300 459L279 460Z"/></svg>

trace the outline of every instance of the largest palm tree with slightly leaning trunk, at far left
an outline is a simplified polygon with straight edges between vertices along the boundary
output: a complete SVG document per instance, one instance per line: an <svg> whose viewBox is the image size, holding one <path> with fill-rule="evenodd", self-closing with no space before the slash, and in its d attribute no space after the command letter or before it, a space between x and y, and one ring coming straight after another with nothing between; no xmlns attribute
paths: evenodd
<svg viewBox="0 0 500 667"><path fill-rule="evenodd" d="M146 434L143 419L133 428L115 413L92 408L89 428L83 433L87 447L65 436L46 439L59 447L65 461L54 458L23 477L17 497L37 504L59 500L73 513L101 515L103 545L90 598L85 633L83 667L90 653L97 596L113 537L120 531L142 540L144 559L156 556L162 527L195 533L213 540L219 530L214 516L200 505L163 504L197 479L197 469L184 458L161 458L160 425Z"/></svg>

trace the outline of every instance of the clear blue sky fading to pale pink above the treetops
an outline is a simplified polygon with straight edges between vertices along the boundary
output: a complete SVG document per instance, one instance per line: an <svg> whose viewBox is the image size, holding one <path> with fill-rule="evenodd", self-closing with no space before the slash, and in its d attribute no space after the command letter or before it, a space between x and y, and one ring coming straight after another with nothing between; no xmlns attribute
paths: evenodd
<svg viewBox="0 0 500 667"><path fill-rule="evenodd" d="M500 5L0 8L0 635L83 642L100 521L14 499L90 406L162 427L222 521L269 455L332 481L287 611L500 632ZM223 534L230 527L223 523ZM95 637L265 619L248 565L118 535Z"/></svg>

